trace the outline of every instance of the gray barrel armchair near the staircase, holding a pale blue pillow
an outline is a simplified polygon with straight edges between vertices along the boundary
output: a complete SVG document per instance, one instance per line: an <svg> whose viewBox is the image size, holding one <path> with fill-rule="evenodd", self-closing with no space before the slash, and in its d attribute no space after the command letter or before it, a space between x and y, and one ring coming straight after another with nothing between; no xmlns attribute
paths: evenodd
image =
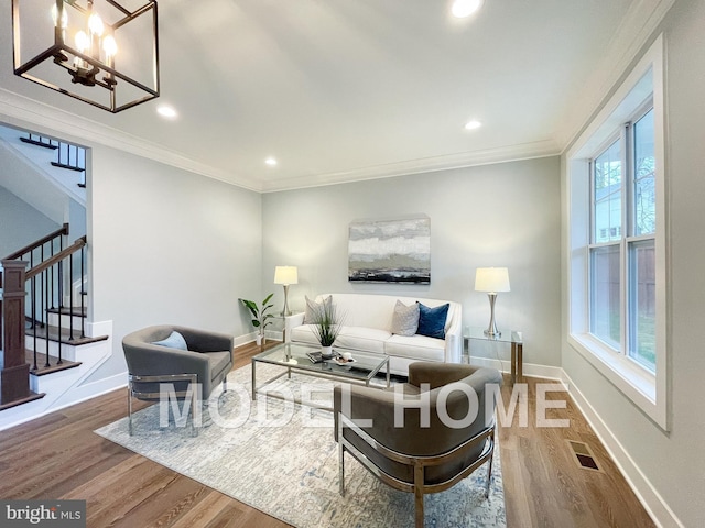
<svg viewBox="0 0 705 528"><path fill-rule="evenodd" d="M188 350L173 349L155 341L166 339L173 331L181 333ZM227 391L227 375L232 369L234 338L194 328L173 324L148 327L122 339L128 364L128 414L132 435L132 398L148 402L160 399L160 384L174 385L178 399L191 396L193 417L200 411L199 398L206 399L223 382ZM200 384L202 391L188 393L191 384ZM193 424L193 420L192 420Z"/></svg>

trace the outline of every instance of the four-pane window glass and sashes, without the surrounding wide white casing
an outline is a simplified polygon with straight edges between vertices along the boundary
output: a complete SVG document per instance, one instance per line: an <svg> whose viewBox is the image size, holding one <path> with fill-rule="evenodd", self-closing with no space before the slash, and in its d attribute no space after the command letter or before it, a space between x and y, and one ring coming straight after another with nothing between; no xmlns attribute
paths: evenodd
<svg viewBox="0 0 705 528"><path fill-rule="evenodd" d="M589 331L651 373L657 367L653 144L649 101L590 161L589 244Z"/></svg>

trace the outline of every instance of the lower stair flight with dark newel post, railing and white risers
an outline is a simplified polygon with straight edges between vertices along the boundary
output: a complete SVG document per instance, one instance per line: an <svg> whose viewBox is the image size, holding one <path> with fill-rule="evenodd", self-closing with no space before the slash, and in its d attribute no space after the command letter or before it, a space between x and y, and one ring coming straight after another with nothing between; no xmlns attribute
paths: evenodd
<svg viewBox="0 0 705 528"><path fill-rule="evenodd" d="M67 244L68 233L65 223L1 261L0 411L50 391L57 400L109 355L96 346L108 336L86 336L86 237Z"/></svg>

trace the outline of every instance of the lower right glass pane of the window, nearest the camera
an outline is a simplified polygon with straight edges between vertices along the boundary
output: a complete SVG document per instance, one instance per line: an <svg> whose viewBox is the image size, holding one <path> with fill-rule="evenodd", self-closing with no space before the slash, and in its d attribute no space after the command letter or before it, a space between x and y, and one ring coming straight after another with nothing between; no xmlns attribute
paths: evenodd
<svg viewBox="0 0 705 528"><path fill-rule="evenodd" d="M653 240L629 245L629 356L657 370L657 274Z"/></svg>

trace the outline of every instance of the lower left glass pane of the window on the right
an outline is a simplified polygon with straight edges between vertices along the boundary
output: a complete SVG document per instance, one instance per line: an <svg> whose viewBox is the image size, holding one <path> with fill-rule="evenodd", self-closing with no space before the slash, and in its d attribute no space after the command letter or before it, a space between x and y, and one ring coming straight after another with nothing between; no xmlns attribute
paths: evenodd
<svg viewBox="0 0 705 528"><path fill-rule="evenodd" d="M619 350L619 245L590 250L590 332Z"/></svg>

